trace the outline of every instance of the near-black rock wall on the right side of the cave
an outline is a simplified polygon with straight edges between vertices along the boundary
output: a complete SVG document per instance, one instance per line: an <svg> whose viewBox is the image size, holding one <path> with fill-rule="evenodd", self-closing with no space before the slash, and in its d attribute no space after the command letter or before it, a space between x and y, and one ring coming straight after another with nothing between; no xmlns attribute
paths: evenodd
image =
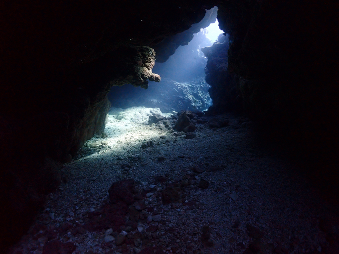
<svg viewBox="0 0 339 254"><path fill-rule="evenodd" d="M287 144L291 154L303 158L310 174L332 182L335 189L338 11L336 1L238 0L220 2L217 17L220 29L230 34L223 62L228 62L228 73L236 75L244 109L259 121L263 136ZM208 82L214 100L214 80L225 77L225 70L207 68L207 77L213 76ZM222 87L225 81L218 84ZM228 109L225 105L223 110Z"/></svg>

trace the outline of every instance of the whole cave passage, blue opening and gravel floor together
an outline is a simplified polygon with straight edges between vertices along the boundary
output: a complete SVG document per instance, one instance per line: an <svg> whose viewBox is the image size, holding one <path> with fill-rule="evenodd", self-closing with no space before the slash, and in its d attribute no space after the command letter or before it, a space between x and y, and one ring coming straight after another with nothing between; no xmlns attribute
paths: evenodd
<svg viewBox="0 0 339 254"><path fill-rule="evenodd" d="M51 176L61 185L9 254L338 253L338 214L298 164L246 116L202 114L216 103L206 80L229 81L228 35L213 28L156 63L159 84L112 87L104 131ZM215 79L206 47L221 52Z"/></svg>

